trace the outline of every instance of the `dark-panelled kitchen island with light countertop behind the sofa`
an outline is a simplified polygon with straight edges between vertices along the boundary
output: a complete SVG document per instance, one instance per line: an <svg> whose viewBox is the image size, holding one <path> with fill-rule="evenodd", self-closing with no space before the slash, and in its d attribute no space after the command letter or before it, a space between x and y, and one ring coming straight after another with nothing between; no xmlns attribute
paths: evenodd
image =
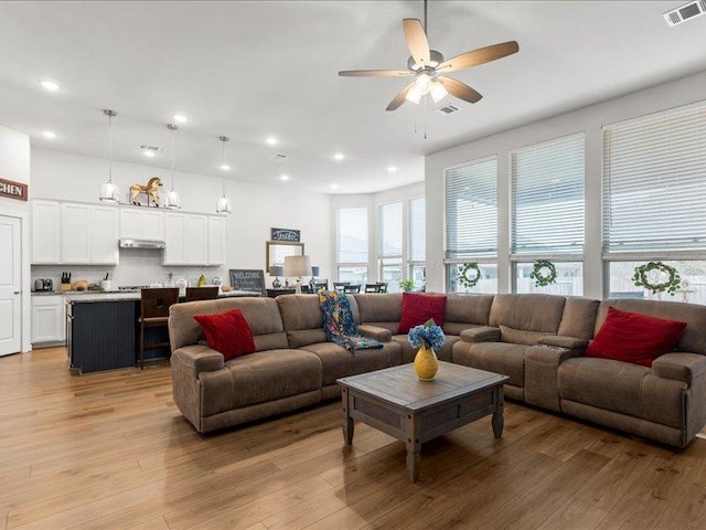
<svg viewBox="0 0 706 530"><path fill-rule="evenodd" d="M259 294L232 290L218 295L220 298L232 296ZM64 295L64 298L69 368L86 373L136 365L139 292L83 292ZM147 350L145 358L157 359L162 354L159 350Z"/></svg>

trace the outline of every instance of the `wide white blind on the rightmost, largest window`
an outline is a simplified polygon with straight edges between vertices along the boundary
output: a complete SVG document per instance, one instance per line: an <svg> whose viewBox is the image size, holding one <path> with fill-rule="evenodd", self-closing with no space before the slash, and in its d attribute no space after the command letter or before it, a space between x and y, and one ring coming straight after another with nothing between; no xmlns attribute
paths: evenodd
<svg viewBox="0 0 706 530"><path fill-rule="evenodd" d="M706 250L706 105L603 127L603 256Z"/></svg>

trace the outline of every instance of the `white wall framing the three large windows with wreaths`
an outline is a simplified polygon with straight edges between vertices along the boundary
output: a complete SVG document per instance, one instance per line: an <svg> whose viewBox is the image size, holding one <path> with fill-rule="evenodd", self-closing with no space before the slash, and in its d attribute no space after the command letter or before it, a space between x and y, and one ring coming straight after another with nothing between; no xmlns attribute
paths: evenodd
<svg viewBox="0 0 706 530"><path fill-rule="evenodd" d="M687 105L706 97L706 72L610 99L579 110L506 130L426 159L427 288L445 290L443 171L463 162L498 155L498 202L509 212L511 150L582 131L586 138L586 246L584 295L602 298L601 262L601 126ZM499 292L510 292L510 220L499 220Z"/></svg>

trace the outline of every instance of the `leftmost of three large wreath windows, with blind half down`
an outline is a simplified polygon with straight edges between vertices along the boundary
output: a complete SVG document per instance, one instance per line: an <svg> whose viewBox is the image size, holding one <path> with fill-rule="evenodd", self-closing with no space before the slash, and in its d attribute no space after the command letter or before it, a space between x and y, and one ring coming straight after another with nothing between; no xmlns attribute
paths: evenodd
<svg viewBox="0 0 706 530"><path fill-rule="evenodd" d="M449 292L498 292L498 158L446 170L446 271ZM478 263L474 287L458 282L463 263Z"/></svg>

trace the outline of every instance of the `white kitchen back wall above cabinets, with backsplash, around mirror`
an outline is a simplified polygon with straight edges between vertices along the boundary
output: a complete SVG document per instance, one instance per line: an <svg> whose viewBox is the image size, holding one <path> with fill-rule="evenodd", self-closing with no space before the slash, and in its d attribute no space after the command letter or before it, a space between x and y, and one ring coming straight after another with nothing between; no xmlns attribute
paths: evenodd
<svg viewBox="0 0 706 530"><path fill-rule="evenodd" d="M98 202L98 190L107 176L106 159L47 149L32 150L33 199ZM163 182L160 195L167 197L171 189L169 169L158 170L119 161L113 163L113 181L118 184L125 202L128 201L131 184L146 184L154 176L160 177ZM216 201L223 194L222 187L223 180L220 178L174 172L174 189L181 194L183 211L214 214ZM208 278L221 275L227 283L228 268L264 269L265 242L269 240L270 227L300 230L301 241L312 264L321 267L322 276L330 273L333 231L328 222L331 209L328 194L300 192L296 190L296 183L291 182L274 187L226 180L226 197L233 205L233 213L226 219L226 265L207 267L205 273ZM120 267L139 266L141 262L136 262L139 258L137 253L121 252L120 265L116 267L114 277L120 276ZM146 271L154 274L153 259L149 256L143 258L149 261ZM168 272L175 272L176 277L197 273L191 269L174 271L178 268L163 267L161 273L165 276ZM45 268L38 271L46 273ZM83 272L89 273L90 269ZM130 283L139 283L135 271L129 271L129 275L124 276L129 276Z"/></svg>

